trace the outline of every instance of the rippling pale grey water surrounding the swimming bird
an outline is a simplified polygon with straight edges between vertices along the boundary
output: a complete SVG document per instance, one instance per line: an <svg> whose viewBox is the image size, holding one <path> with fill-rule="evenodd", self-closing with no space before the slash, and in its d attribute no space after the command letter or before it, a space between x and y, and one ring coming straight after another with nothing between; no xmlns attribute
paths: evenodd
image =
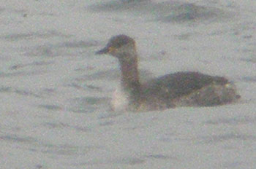
<svg viewBox="0 0 256 169"><path fill-rule="evenodd" d="M0 168L255 168L254 1L0 2ZM110 36L144 76L226 76L239 103L112 112ZM153 73L148 73L153 72Z"/></svg>

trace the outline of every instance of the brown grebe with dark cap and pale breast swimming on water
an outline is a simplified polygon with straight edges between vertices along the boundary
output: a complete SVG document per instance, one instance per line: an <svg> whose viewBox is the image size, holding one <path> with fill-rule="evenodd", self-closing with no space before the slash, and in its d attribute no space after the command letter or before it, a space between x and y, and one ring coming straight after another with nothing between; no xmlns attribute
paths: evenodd
<svg viewBox="0 0 256 169"><path fill-rule="evenodd" d="M113 110L154 111L177 106L218 106L233 103L241 96L236 86L222 76L196 71L166 74L146 83L140 82L135 40L127 35L110 38L106 47L96 52L118 59L121 69L121 93L112 100ZM118 104L118 101L124 103Z"/></svg>

